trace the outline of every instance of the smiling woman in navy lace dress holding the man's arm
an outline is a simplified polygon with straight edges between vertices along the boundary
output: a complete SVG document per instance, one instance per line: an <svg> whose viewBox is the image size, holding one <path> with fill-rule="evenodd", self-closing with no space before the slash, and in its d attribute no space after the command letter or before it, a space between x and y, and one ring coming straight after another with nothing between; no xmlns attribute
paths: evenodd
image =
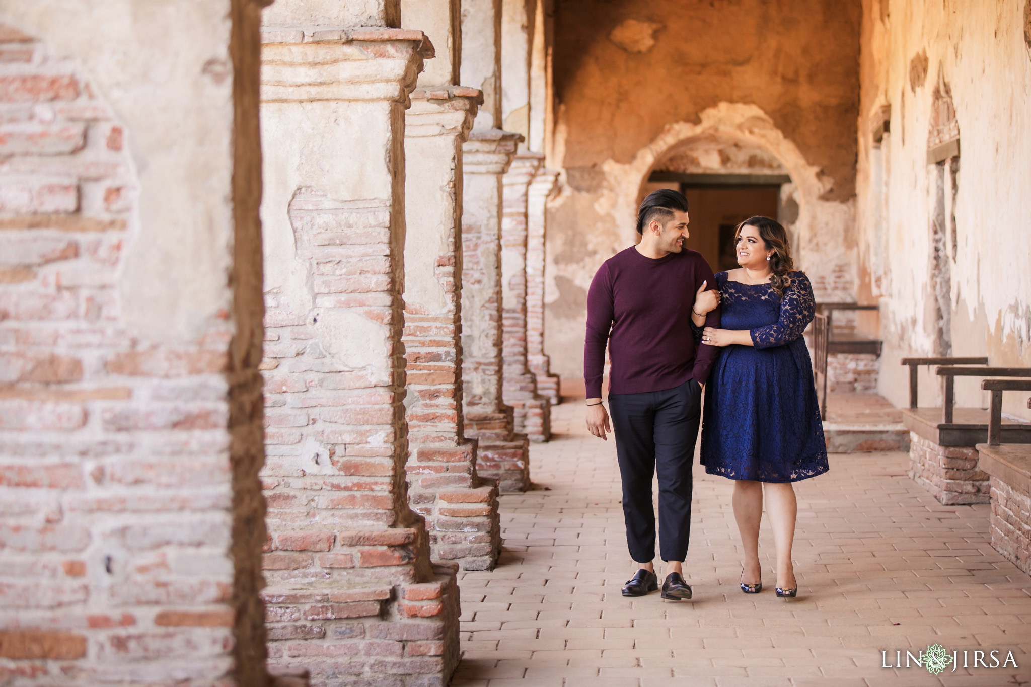
<svg viewBox="0 0 1031 687"><path fill-rule="evenodd" d="M741 591L762 590L759 522L765 491L776 544L776 595L793 597L798 584L791 560L797 513L792 483L828 469L812 365L802 340L816 304L809 280L794 271L778 222L745 219L735 243L741 267L716 275L722 329L701 334L703 343L724 347L705 388L701 462L708 474L734 480L734 518L744 550ZM712 307L708 300L701 305Z"/></svg>

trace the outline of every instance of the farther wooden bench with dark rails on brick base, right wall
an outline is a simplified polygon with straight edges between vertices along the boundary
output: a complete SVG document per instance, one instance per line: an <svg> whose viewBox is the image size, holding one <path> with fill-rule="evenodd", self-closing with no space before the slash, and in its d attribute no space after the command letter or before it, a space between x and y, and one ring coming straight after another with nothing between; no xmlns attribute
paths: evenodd
<svg viewBox="0 0 1031 687"><path fill-rule="evenodd" d="M956 408L955 378L1031 377L1031 369L980 367L988 365L987 357L907 357L902 365L909 367L909 408L902 410L902 422L910 437L910 477L942 504L987 504L988 475L978 468L975 447L988 433L989 411ZM918 407L921 365L941 366L941 408ZM1000 426L1006 442L1031 442L1031 424L1007 420Z"/></svg>

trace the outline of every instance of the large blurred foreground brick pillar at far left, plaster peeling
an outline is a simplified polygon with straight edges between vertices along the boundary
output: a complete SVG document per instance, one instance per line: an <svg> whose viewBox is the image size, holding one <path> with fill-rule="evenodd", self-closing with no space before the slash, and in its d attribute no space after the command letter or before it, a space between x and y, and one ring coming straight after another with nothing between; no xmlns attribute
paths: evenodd
<svg viewBox="0 0 1031 687"><path fill-rule="evenodd" d="M0 683L267 684L259 11L4 4Z"/></svg>

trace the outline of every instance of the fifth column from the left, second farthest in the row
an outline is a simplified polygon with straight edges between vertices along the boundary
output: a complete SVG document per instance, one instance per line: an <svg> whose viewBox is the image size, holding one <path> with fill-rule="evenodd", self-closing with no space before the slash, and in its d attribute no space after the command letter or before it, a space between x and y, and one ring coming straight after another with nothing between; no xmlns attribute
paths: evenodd
<svg viewBox="0 0 1031 687"><path fill-rule="evenodd" d="M527 192L544 156L519 152L502 177L501 330L504 365L503 398L513 409L513 428L534 442L552 435L551 402L537 394L537 382L527 367L526 249Z"/></svg>

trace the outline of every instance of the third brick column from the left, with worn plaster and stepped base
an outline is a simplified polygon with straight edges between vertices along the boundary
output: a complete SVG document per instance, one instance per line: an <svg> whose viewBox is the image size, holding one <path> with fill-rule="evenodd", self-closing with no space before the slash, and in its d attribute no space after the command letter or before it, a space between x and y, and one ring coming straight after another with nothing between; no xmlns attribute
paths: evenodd
<svg viewBox="0 0 1031 687"><path fill-rule="evenodd" d="M426 517L433 558L477 571L494 568L501 549L497 482L476 474L462 417L462 143L480 102L479 91L455 85L411 96L403 339L409 503Z"/></svg>

